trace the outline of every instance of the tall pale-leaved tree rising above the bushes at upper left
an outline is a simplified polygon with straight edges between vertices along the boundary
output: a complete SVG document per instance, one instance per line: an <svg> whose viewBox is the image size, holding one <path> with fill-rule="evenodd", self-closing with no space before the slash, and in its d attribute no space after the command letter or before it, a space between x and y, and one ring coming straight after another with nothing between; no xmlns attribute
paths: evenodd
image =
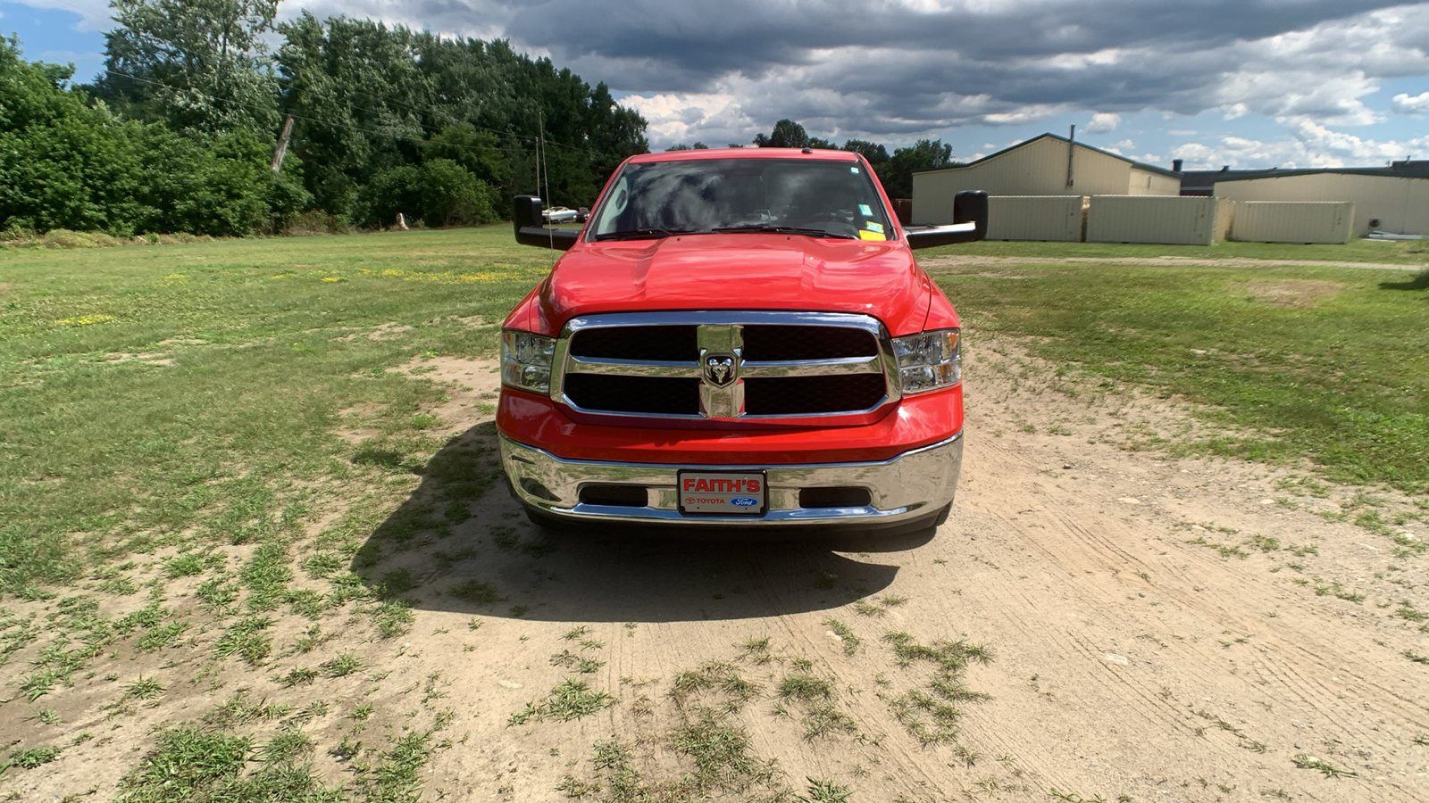
<svg viewBox="0 0 1429 803"><path fill-rule="evenodd" d="M111 0L96 93L171 129L277 134L277 80L263 36L279 0Z"/></svg>

